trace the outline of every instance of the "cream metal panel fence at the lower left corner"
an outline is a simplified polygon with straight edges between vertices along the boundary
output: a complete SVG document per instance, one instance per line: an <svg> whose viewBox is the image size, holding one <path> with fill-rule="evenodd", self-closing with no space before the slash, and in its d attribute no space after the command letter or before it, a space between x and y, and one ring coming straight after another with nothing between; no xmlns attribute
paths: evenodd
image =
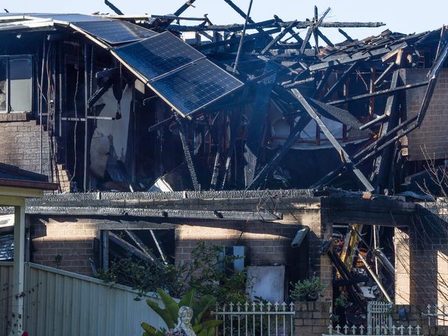
<svg viewBox="0 0 448 336"><path fill-rule="evenodd" d="M25 263L25 330L34 336L135 336L141 322L165 323L136 292L110 286L92 277ZM11 321L12 262L0 262L0 335L8 335ZM150 300L163 303L156 295Z"/></svg>

